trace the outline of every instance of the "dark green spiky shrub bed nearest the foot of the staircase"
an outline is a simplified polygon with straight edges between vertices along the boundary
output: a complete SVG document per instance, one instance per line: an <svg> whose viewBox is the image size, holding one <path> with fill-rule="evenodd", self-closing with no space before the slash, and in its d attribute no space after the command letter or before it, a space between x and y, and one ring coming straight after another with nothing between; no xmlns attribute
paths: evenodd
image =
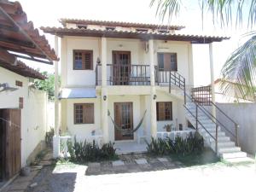
<svg viewBox="0 0 256 192"><path fill-rule="evenodd" d="M204 140L198 132L195 132L194 136L190 133L189 137L185 139L176 137L174 141L170 137L166 139L152 137L151 142L147 145L148 154L199 154L204 148Z"/></svg>

